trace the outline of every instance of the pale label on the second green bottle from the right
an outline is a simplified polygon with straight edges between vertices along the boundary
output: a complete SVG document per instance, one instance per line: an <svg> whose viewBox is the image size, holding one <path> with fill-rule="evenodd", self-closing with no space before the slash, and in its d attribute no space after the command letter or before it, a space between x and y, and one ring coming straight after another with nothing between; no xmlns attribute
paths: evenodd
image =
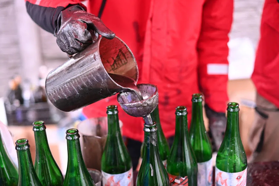
<svg viewBox="0 0 279 186"><path fill-rule="evenodd" d="M212 185L212 158L206 162L198 163L198 186Z"/></svg>

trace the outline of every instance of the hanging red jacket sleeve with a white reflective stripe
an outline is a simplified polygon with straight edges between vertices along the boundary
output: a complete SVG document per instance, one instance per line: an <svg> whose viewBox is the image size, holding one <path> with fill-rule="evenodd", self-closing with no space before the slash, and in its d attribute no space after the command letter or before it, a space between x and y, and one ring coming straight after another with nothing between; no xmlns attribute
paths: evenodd
<svg viewBox="0 0 279 186"><path fill-rule="evenodd" d="M197 43L198 80L205 103L215 112L225 112L228 101L228 33L233 0L206 0Z"/></svg>

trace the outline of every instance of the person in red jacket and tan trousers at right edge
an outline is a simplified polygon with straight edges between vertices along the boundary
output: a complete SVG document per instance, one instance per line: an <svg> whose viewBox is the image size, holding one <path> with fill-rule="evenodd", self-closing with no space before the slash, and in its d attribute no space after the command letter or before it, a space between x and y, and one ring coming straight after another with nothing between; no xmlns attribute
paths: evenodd
<svg viewBox="0 0 279 186"><path fill-rule="evenodd" d="M252 80L255 119L249 135L251 161L279 160L279 1L266 0Z"/></svg>

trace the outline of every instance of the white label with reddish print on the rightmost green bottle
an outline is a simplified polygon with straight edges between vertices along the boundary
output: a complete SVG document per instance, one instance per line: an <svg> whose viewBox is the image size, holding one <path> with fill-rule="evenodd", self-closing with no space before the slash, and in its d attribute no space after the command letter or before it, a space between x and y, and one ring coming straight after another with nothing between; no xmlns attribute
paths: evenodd
<svg viewBox="0 0 279 186"><path fill-rule="evenodd" d="M247 167L241 172L224 172L215 167L215 185L216 186L246 186Z"/></svg>

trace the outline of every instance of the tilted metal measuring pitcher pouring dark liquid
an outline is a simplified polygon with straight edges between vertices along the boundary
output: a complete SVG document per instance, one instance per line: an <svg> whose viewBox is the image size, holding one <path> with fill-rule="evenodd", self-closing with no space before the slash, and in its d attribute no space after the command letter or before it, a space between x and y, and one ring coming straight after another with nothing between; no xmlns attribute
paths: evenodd
<svg viewBox="0 0 279 186"><path fill-rule="evenodd" d="M58 109L69 112L121 92L108 73L133 78L138 67L129 47L118 37L104 37L69 58L46 78L49 100Z"/></svg>

